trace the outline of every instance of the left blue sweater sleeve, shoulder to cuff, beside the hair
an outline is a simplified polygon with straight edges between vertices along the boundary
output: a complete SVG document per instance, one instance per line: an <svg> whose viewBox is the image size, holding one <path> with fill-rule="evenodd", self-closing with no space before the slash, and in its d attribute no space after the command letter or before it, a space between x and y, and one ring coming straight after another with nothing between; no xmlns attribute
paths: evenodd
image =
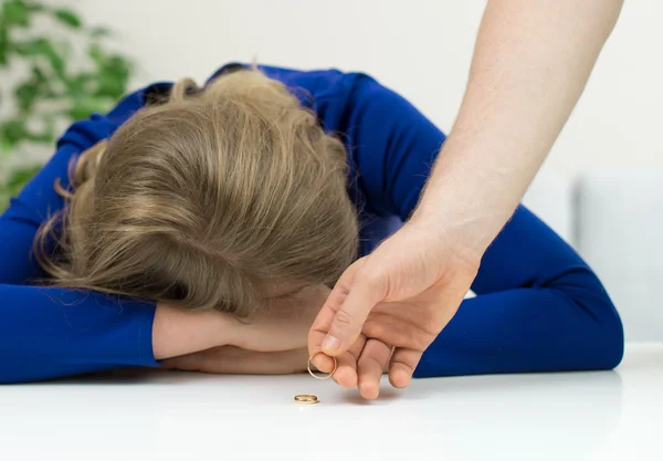
<svg viewBox="0 0 663 461"><path fill-rule="evenodd" d="M55 180L66 187L70 163L109 137L141 101L141 92L136 92L108 115L72 125L50 161L0 217L0 383L156 365L154 304L30 285L44 276L31 253L35 232L64 205L53 188Z"/></svg>

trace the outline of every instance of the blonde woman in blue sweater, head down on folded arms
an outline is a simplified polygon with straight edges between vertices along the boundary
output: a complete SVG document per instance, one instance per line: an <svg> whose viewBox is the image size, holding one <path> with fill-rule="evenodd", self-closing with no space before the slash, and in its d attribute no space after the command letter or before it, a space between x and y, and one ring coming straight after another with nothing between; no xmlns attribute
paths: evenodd
<svg viewBox="0 0 663 461"><path fill-rule="evenodd" d="M366 75L240 64L75 123L0 219L0 381L304 369L329 286L407 220L443 142ZM473 291L417 376L621 360L601 283L523 207Z"/></svg>

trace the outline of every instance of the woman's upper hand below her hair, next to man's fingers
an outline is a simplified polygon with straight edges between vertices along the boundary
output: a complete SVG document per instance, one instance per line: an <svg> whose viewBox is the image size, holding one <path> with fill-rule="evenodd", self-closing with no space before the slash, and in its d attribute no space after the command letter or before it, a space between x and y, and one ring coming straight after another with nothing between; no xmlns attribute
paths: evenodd
<svg viewBox="0 0 663 461"><path fill-rule="evenodd" d="M236 322L229 333L227 344L254 352L306 347L308 329L330 292L327 286L316 285L305 287L294 295L273 298L269 302L266 312L256 319Z"/></svg>

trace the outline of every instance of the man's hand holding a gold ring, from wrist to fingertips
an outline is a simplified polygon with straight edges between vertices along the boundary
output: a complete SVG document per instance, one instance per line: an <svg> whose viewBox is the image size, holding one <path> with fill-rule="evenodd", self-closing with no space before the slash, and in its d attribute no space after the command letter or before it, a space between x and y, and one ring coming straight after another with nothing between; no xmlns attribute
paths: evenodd
<svg viewBox="0 0 663 461"><path fill-rule="evenodd" d="M425 348L454 316L478 270L424 226L407 224L338 281L308 335L311 354L338 360L335 379L376 398L382 370L406 387ZM333 360L315 365L330 371Z"/></svg>

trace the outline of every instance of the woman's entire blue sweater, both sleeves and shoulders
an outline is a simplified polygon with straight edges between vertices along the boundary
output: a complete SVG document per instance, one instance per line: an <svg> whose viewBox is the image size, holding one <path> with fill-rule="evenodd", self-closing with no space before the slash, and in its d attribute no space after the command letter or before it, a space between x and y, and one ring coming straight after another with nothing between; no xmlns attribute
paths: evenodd
<svg viewBox="0 0 663 461"><path fill-rule="evenodd" d="M222 67L215 75L232 66ZM348 192L366 254L406 220L444 134L371 77L338 71L262 67L283 82L348 151ZM126 96L107 115L73 124L44 168L0 217L0 383L49 379L129 366L158 366L156 305L122 296L36 285L35 231L63 207L72 158L115 129L169 83ZM453 200L453 197L450 197ZM484 255L457 315L425 352L415 376L609 369L623 353L621 321L589 266L524 207Z"/></svg>

